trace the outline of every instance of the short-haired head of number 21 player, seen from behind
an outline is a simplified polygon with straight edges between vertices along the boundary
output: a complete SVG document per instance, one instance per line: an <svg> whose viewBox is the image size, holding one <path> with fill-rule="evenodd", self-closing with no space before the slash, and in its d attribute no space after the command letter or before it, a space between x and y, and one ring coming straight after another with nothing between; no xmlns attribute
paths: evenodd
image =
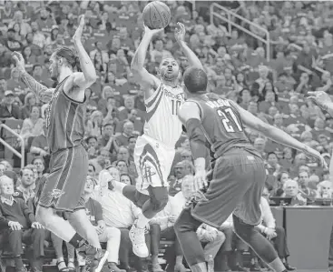
<svg viewBox="0 0 333 272"><path fill-rule="evenodd" d="M184 84L190 93L206 92L208 78L205 71L197 67L188 67L183 76Z"/></svg>

